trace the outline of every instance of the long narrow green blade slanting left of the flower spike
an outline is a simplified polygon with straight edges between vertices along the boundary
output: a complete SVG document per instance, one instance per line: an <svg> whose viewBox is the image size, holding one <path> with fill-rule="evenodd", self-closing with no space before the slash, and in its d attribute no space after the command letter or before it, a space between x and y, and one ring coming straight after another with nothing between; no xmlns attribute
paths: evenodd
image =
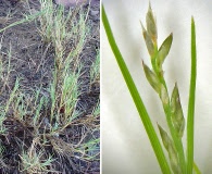
<svg viewBox="0 0 212 174"><path fill-rule="evenodd" d="M107 33L107 36L108 36L108 39L109 39L109 42L110 42L110 46L111 46L111 49L115 55L115 59L117 61L117 64L120 66L120 70L122 72L122 75L126 82L126 85L129 89L129 92L132 95L132 98L136 104L136 108L138 110L138 113L140 115L140 119L144 123L144 126L146 128L146 132L147 132L147 135L150 139L150 142L151 142L151 146L154 150L154 154L158 159L158 162L160 164L160 167L161 167L161 171L163 174L171 174L171 170L170 170L170 166L169 166L169 163L166 161L166 158L164 156L164 152L163 152L163 149L162 149L162 146L159 141L159 138L157 136L157 133L153 128L153 125L151 123L151 120L149 117L149 114L146 110L146 107L140 98L140 95L135 86L135 83L130 76L130 73L128 72L128 69L124 62L124 59L117 48L117 45L115 42L115 39L113 37L113 34L112 34L112 30L111 30L111 27L110 27L110 24L109 24L109 21L108 21L108 17L107 17L107 14L105 14L105 11L104 11L104 8L102 5L102 9L101 9L101 12L102 12L102 22L103 22L103 26L104 26L104 29L105 29L105 33Z"/></svg>

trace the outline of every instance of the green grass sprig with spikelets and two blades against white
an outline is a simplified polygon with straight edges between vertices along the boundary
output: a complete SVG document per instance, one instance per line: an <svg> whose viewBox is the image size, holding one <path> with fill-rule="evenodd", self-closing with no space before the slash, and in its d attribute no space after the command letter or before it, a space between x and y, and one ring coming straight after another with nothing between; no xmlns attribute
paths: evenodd
<svg viewBox="0 0 212 174"><path fill-rule="evenodd" d="M102 5L102 22L104 29L129 89L132 98L135 105L139 112L140 119L144 123L148 137L150 139L151 146L154 150L155 157L160 164L161 171L164 174L191 174L194 171L200 173L198 166L194 162L194 115L195 115L195 90L196 90L196 32L195 32L195 21L191 17L191 75L190 75L190 91L188 101L188 113L187 113L187 148L184 150L182 137L185 133L185 117L180 104L179 92L177 84L175 84L172 95L169 95L166 82L163 73L163 62L167 57L173 34L170 34L162 45L158 46L158 30L155 18L153 16L151 5L149 4L149 10L146 15L147 28L141 24L142 34L146 41L146 46L151 60L151 67L148 67L145 62L142 62L144 71L146 77L159 95L163 110L166 116L166 122L169 126L169 133L158 124L159 132L161 135L162 144L164 149L169 154L169 161L165 157L164 150L161 146L159 137L154 130L150 116L146 110L142 99L135 86L135 83L130 76L130 73L124 62L124 59L116 46L115 39L113 37L104 8Z"/></svg>

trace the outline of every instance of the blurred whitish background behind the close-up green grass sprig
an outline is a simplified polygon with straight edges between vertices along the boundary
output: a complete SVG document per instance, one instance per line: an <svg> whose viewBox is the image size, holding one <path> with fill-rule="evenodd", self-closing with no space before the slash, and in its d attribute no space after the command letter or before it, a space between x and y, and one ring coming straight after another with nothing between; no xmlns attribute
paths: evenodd
<svg viewBox="0 0 212 174"><path fill-rule="evenodd" d="M142 21L146 25L149 1L103 0L102 3L155 129L157 122L167 129L161 102L148 84L141 66L141 60L150 65L139 23ZM185 117L190 77L190 20L191 15L195 17L198 59L195 161L203 174L212 173L212 1L151 0L151 7L157 16L159 46L173 33L173 45L163 67L170 92L174 83L178 84ZM103 174L161 173L102 24L101 138Z"/></svg>

